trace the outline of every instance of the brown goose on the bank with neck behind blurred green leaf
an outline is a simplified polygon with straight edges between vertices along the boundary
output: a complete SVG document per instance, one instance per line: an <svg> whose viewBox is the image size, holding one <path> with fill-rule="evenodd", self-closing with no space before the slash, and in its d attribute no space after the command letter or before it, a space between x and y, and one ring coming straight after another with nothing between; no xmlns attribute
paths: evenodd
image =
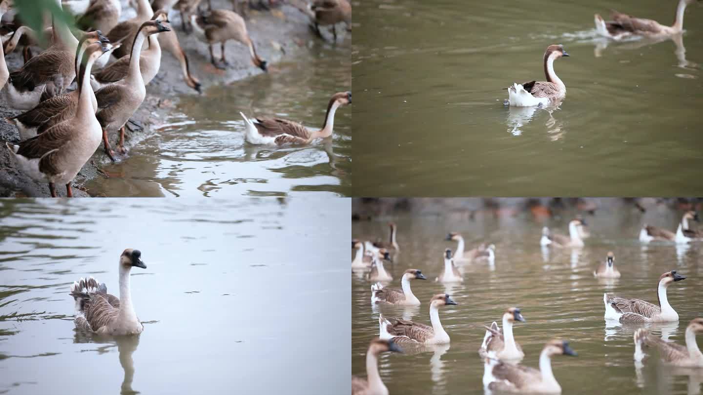
<svg viewBox="0 0 703 395"><path fill-rule="evenodd" d="M56 0L60 6L60 1ZM10 73L2 93L17 110L30 110L41 100L63 92L76 77L75 53L78 40L63 21L53 22L54 43Z"/></svg>

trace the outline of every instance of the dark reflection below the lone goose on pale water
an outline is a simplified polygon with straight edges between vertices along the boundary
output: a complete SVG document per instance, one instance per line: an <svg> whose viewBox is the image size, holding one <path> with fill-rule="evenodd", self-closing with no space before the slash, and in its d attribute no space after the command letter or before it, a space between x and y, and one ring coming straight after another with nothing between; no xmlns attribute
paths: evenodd
<svg viewBox="0 0 703 395"><path fill-rule="evenodd" d="M134 380L134 359L132 358L132 354L134 354L134 351L136 351L139 345L140 336L141 335L108 337L76 330L73 342L76 344L101 344L97 349L84 350L97 351L98 354L109 353L112 347L117 346L120 365L122 365L122 370L124 370L120 395L136 395L139 394L139 391L135 391L131 387L132 380Z"/></svg>

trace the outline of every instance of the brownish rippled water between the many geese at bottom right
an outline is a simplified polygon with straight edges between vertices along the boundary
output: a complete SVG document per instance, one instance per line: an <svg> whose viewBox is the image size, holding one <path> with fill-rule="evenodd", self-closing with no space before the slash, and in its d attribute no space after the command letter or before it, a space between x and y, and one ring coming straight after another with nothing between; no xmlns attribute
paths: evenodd
<svg viewBox="0 0 703 395"><path fill-rule="evenodd" d="M569 216L567 214L567 216ZM510 306L519 306L526 323L515 325L515 338L526 354L523 363L538 365L543 344L552 337L571 341L576 358L553 359L553 370L563 394L697 394L703 387L703 372L672 371L645 361L633 364L633 331L638 326L617 326L603 319L603 292L657 302L656 287L664 271L676 269L686 280L669 287L669 302L681 320L659 325L654 333L683 344L688 321L703 316L702 245L640 245L637 235L643 221L673 228L680 214L659 209L644 216L630 207L599 210L587 217L591 238L578 250L547 250L539 246L543 224L527 215L494 219L478 214L468 221L460 214L442 216L384 217L352 226L356 238L386 236L386 221L398 224L401 252L394 264L386 264L399 279L407 268L419 268L427 281L414 280L413 293L419 308L380 309L370 304L370 283L352 276L352 373L366 375L368 342L378 336L378 313L429 323L427 302L446 292L458 303L439 313L451 344L414 355L385 354L380 373L391 394L483 394L483 363L477 350L483 325L500 320ZM566 232L567 219L546 224ZM434 278L443 267L441 254L456 242L445 242L449 231L464 235L467 249L479 242L496 244L494 268L488 264L463 266L464 283L444 286ZM622 274L614 282L593 278L593 270L613 251ZM399 286L399 281L392 283ZM703 339L699 337L699 344Z"/></svg>

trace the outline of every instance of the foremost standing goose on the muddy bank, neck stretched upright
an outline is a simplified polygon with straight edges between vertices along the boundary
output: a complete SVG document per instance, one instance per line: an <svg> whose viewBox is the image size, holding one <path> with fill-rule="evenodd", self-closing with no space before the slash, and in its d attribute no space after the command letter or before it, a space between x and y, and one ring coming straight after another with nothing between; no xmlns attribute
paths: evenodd
<svg viewBox="0 0 703 395"><path fill-rule="evenodd" d="M106 49L101 43L86 48L78 77L78 107L75 117L56 124L29 140L11 145L19 169L37 181L48 181L51 197L56 197L55 183L65 184L72 197L71 181L100 145L101 128L95 116L89 84L93 61Z"/></svg>

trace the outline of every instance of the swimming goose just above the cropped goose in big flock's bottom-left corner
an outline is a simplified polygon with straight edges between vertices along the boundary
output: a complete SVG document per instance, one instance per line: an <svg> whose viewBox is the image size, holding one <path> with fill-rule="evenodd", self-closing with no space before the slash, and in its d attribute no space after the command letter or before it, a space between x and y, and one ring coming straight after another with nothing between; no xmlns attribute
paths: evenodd
<svg viewBox="0 0 703 395"><path fill-rule="evenodd" d="M439 322L439 308L456 304L449 294L437 294L430 299L430 322L432 326L415 323L411 320L397 319L391 323L381 314L378 325L381 339L392 339L396 344L444 344L449 343L449 335Z"/></svg>

